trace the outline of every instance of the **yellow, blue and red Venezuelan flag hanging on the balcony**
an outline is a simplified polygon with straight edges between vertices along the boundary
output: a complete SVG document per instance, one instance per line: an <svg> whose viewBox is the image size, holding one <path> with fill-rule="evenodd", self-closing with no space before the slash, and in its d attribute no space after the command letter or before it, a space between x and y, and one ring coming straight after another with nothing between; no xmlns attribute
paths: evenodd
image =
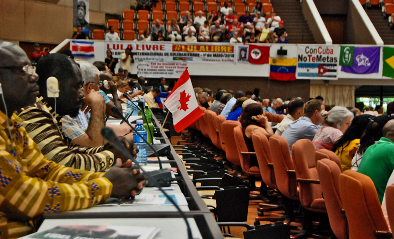
<svg viewBox="0 0 394 239"><path fill-rule="evenodd" d="M279 81L296 80L297 59L270 58L269 79Z"/></svg>

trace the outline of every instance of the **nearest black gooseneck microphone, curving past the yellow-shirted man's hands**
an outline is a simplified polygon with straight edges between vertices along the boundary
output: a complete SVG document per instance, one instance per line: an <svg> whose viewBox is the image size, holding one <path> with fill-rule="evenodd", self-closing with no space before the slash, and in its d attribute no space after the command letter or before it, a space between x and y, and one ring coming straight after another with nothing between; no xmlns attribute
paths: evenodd
<svg viewBox="0 0 394 239"><path fill-rule="evenodd" d="M106 140L108 140L108 142L111 142L116 148L118 148L126 157L130 158L131 161L133 163L135 163L137 165L137 167L146 175L146 177L148 178L148 181L155 180L149 174L150 172L146 173L146 171L139 165L139 163L135 161L134 157L130 154L129 150L126 149L126 147L122 144L122 142L119 140L119 138L116 137L114 131L111 128L103 127L101 129L101 135ZM171 173L170 173L170 175L171 175ZM175 201L170 196L168 196L168 194L163 190L162 185L160 183L158 183L156 186L160 189L160 191L164 194L164 196L175 206L175 208L179 211L179 213L181 213L181 215L186 223L187 232L188 232L188 239L193 239L192 229L190 228L190 225L189 225L189 222L186 218L185 213L179 208L179 206L175 203Z"/></svg>

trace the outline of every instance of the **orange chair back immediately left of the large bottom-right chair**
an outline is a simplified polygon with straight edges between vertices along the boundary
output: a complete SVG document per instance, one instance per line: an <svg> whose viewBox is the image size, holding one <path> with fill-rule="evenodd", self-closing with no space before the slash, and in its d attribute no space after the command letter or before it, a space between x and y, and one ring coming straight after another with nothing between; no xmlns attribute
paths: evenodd
<svg viewBox="0 0 394 239"><path fill-rule="evenodd" d="M335 155L336 156L336 155ZM329 224L337 239L348 239L348 223L339 195L339 175L342 167L328 158L317 161L316 169L322 186Z"/></svg>

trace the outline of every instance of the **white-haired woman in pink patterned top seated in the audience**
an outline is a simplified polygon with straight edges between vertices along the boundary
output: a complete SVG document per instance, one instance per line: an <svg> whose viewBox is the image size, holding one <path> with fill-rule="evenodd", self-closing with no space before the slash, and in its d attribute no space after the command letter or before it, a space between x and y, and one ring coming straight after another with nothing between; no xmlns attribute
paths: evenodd
<svg viewBox="0 0 394 239"><path fill-rule="evenodd" d="M322 127L316 132L312 143L316 150L334 147L335 142L345 133L353 120L353 113L343 106L335 106L323 115Z"/></svg>

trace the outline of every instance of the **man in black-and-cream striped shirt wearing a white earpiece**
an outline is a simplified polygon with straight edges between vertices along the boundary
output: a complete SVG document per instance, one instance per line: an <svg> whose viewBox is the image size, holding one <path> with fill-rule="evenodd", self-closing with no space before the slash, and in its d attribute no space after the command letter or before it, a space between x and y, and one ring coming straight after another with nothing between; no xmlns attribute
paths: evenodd
<svg viewBox="0 0 394 239"><path fill-rule="evenodd" d="M111 144L101 147L81 147L71 143L62 130L63 116L75 117L80 111L84 94L82 75L75 61L62 54L49 54L37 63L37 82L41 97L33 106L18 110L18 116L29 136L49 159L66 167L100 172L111 167L115 158L127 160ZM59 97L47 97L46 81L56 77ZM54 110L56 106L56 110ZM56 116L55 116L56 115ZM104 125L102 125L104 126ZM130 150L132 143L123 141ZM136 154L135 151L133 151Z"/></svg>

